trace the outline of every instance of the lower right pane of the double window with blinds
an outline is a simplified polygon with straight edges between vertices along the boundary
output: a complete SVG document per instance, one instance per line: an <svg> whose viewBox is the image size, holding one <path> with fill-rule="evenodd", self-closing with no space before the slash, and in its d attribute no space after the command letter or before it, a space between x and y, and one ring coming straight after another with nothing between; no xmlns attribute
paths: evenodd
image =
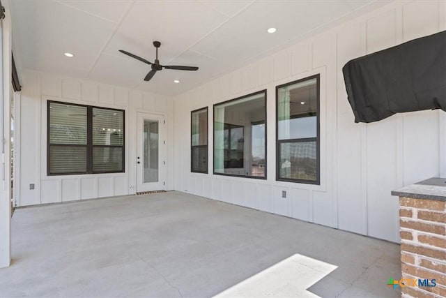
<svg viewBox="0 0 446 298"><path fill-rule="evenodd" d="M93 147L93 172L122 172L122 147Z"/></svg>

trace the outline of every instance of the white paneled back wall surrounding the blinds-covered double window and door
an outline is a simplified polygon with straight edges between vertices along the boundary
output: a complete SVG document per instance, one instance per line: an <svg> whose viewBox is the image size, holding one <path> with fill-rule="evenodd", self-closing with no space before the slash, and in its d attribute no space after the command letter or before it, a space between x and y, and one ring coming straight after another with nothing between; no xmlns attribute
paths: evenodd
<svg viewBox="0 0 446 298"><path fill-rule="evenodd" d="M166 184L167 189L173 188L172 98L33 70L24 70L22 80L22 91L16 103L16 121L20 122L17 206L135 193L137 112L165 116ZM125 172L47 176L47 100L125 110ZM35 184L35 188L29 189L29 184Z"/></svg>

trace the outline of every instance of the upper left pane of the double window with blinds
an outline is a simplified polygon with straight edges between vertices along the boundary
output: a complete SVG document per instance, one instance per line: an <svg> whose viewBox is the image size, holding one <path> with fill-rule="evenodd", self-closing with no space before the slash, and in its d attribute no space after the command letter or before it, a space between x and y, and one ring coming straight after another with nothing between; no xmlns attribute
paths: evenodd
<svg viewBox="0 0 446 298"><path fill-rule="evenodd" d="M49 143L86 144L86 107L49 103Z"/></svg>

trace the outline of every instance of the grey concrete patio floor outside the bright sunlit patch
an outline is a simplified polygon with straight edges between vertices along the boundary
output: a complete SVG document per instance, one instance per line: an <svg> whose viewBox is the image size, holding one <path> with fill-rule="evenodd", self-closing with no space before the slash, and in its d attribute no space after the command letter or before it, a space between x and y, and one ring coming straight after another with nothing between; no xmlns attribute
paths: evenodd
<svg viewBox="0 0 446 298"><path fill-rule="evenodd" d="M401 297L397 244L185 193L16 209L12 235L0 297L212 297L296 254L337 266L315 295Z"/></svg>

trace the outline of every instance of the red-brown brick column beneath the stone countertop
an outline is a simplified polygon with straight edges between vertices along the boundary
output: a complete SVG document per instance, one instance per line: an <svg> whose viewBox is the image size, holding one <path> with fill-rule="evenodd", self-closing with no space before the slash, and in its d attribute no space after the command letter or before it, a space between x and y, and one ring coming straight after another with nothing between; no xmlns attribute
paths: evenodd
<svg viewBox="0 0 446 298"><path fill-rule="evenodd" d="M399 198L402 278L436 280L406 286L403 297L446 297L446 201Z"/></svg>

